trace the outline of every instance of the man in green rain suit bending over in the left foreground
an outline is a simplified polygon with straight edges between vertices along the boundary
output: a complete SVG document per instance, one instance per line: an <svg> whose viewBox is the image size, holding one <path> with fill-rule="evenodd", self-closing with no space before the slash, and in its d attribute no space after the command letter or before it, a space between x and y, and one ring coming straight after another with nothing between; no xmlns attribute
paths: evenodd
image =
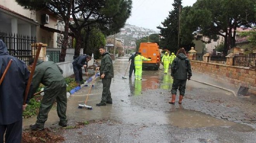
<svg viewBox="0 0 256 143"><path fill-rule="evenodd" d="M29 61L29 65L33 64L34 60ZM67 90L66 82L62 76L63 71L52 61L39 60L36 63L35 72L33 75L33 90L35 93L40 83L45 85L43 99L39 108L36 124L30 125L32 130L43 130L45 121L47 121L48 112L52 108L54 101L57 102L57 114L60 118L59 125L67 126Z"/></svg>

